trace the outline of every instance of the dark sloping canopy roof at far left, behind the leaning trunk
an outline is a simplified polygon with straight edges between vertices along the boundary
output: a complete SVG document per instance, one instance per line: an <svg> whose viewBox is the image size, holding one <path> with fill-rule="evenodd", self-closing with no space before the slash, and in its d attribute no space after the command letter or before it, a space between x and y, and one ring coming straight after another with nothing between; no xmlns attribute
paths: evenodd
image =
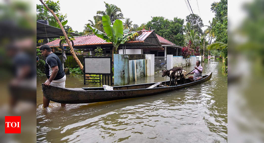
<svg viewBox="0 0 264 143"><path fill-rule="evenodd" d="M73 36L80 36L73 32L71 34ZM37 22L37 39L59 38L60 36L64 36L62 29Z"/></svg>

